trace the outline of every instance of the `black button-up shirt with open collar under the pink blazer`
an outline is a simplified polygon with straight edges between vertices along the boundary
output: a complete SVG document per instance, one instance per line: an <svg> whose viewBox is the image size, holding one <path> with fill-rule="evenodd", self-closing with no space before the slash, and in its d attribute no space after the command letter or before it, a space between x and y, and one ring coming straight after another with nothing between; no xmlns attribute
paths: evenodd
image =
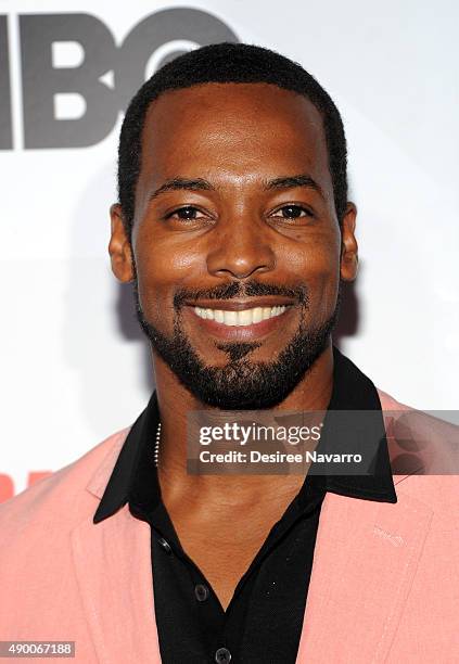
<svg viewBox="0 0 459 664"><path fill-rule="evenodd" d="M373 383L336 348L333 355L329 410L374 410L382 421ZM323 476L311 472L313 464L224 611L211 584L182 549L162 501L153 462L158 421L153 393L126 438L93 521L110 518L128 502L130 512L151 526L154 606L163 662L294 664L324 495L333 491L396 502L385 438L378 440L374 475ZM221 527L234 526L222 523ZM116 542L113 546L116 548Z"/></svg>

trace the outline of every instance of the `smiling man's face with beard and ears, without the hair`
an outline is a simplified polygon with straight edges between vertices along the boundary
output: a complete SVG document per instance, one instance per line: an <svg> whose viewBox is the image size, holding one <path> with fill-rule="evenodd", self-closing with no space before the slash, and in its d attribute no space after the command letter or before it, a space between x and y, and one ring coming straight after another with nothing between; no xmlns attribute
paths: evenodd
<svg viewBox="0 0 459 664"><path fill-rule="evenodd" d="M307 99L265 84L168 91L143 130L133 271L114 271L135 280L142 329L195 397L268 408L329 344L354 217L342 238Z"/></svg>

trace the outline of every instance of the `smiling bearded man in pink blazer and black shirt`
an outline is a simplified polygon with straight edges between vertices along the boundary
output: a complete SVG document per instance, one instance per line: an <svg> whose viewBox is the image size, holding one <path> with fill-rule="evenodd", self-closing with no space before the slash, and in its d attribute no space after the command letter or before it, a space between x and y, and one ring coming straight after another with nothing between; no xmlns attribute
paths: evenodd
<svg viewBox="0 0 459 664"><path fill-rule="evenodd" d="M118 190L112 269L156 391L1 507L1 638L88 663L457 661L455 477L393 477L384 436L371 475L187 472L195 410L403 408L331 344L357 243L327 92L257 47L182 55L129 105Z"/></svg>

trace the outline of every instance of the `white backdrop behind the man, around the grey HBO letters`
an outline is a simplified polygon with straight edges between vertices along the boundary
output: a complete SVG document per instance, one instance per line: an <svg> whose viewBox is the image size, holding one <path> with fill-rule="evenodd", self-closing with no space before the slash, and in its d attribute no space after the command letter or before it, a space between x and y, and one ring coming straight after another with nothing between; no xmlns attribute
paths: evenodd
<svg viewBox="0 0 459 664"><path fill-rule="evenodd" d="M64 11L68 20L87 13L120 44L146 16L178 7L208 12L239 40L301 62L330 92L346 127L361 259L358 324L341 347L399 400L457 406L456 2L81 0L64 10L62 1L7 0L0 68L3 80L5 67L10 74L12 148L0 150L0 499L25 488L30 473L56 470L130 424L153 384L129 286L112 276L106 248L120 114L93 145L25 149L18 16L63 14L65 22ZM181 36L161 53L152 47L146 73L189 41ZM77 67L84 53L61 42L52 56L54 67ZM103 80L114 85L110 67ZM53 102L60 119L85 113L75 95Z"/></svg>

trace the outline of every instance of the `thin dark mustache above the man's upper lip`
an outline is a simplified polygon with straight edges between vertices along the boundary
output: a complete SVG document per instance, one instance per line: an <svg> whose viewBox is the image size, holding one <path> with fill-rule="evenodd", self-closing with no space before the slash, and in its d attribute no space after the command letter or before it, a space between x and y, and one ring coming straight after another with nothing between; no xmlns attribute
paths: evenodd
<svg viewBox="0 0 459 664"><path fill-rule="evenodd" d="M309 291L303 284L295 288L286 288L259 281L248 281L246 283L232 281L214 289L178 289L174 295L174 308L176 311L179 311L183 303L189 299L232 299L257 295L284 295L285 297L297 299L299 305L304 307L309 303Z"/></svg>

